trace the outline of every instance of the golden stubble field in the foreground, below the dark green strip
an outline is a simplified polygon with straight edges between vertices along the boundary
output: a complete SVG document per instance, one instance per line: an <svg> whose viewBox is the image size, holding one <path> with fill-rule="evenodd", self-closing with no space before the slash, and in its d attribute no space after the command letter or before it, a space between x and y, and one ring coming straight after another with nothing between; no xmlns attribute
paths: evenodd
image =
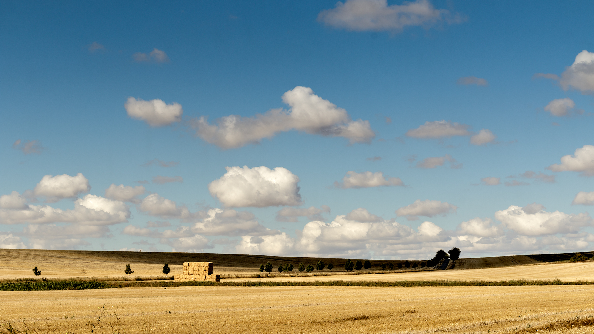
<svg viewBox="0 0 594 334"><path fill-rule="evenodd" d="M184 286L5 291L0 298L2 322L39 333L520 333L594 315L588 285Z"/></svg>

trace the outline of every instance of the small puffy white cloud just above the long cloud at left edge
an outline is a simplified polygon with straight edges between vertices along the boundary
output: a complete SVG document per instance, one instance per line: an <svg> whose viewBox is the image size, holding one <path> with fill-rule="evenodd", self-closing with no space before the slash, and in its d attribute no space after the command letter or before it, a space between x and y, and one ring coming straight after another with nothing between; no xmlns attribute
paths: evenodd
<svg viewBox="0 0 594 334"><path fill-rule="evenodd" d="M89 180L82 173L75 177L67 174L45 175L33 189L35 196L45 196L48 203L53 203L62 198L77 197L80 193L91 190Z"/></svg>

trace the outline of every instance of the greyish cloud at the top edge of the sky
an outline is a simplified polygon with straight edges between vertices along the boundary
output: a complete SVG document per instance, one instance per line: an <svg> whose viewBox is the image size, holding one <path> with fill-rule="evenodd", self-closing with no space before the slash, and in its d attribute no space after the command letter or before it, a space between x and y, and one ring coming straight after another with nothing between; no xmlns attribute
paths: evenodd
<svg viewBox="0 0 594 334"><path fill-rule="evenodd" d="M400 31L405 27L431 27L437 23L460 23L460 15L437 10L428 0L389 5L387 0L347 0L321 11L318 21L326 26L354 31Z"/></svg>

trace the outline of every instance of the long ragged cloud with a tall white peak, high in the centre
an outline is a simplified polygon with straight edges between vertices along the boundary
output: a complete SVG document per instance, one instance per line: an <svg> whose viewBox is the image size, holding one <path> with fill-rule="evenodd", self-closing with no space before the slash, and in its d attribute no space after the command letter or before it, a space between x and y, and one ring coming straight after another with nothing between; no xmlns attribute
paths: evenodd
<svg viewBox="0 0 594 334"><path fill-rule="evenodd" d="M196 135L223 149L259 143L277 133L298 130L308 134L345 137L350 143L370 143L375 133L369 121L352 121L345 109L314 94L311 88L297 86L283 94L289 111L271 109L255 117L225 116L217 125L208 124L206 117L191 121Z"/></svg>

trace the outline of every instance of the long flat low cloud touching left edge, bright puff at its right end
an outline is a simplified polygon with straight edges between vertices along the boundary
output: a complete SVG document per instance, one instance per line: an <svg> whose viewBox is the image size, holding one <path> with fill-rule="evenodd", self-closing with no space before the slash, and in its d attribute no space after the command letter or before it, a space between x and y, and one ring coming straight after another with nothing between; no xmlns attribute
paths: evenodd
<svg viewBox="0 0 594 334"><path fill-rule="evenodd" d="M14 192L11 196L15 196ZM28 204L26 208L3 207L0 209L0 223L3 224L65 222L80 225L112 225L127 222L129 217L128 206L121 201L90 194L75 200L72 210L31 204Z"/></svg>

